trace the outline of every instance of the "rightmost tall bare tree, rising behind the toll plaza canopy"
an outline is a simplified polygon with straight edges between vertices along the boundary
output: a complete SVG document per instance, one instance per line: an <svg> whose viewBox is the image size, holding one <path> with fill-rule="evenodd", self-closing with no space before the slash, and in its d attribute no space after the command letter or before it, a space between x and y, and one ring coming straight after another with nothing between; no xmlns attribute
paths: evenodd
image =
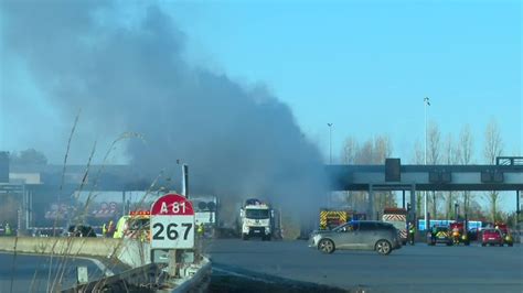
<svg viewBox="0 0 523 293"><path fill-rule="evenodd" d="M502 152L503 139L501 138L501 131L498 122L494 119L491 119L484 131L483 156L485 162L491 165L495 164L495 158L500 156ZM492 221L495 221L497 219L499 195L499 192L492 191L487 196L490 203Z"/></svg>

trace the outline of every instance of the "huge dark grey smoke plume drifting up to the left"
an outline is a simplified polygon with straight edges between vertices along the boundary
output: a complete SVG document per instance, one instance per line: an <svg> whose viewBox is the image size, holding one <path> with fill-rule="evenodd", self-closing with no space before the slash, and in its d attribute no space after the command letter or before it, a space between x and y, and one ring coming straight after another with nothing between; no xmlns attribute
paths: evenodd
<svg viewBox="0 0 523 293"><path fill-rule="evenodd" d="M263 86L192 67L183 57L188 36L168 13L154 4L119 13L127 4L1 1L2 56L22 61L58 116L82 108L81 123L97 137L141 133L146 143L128 142L126 153L150 177L178 170L180 160L193 193L317 210L321 155L289 107ZM63 140L49 143L63 150Z"/></svg>

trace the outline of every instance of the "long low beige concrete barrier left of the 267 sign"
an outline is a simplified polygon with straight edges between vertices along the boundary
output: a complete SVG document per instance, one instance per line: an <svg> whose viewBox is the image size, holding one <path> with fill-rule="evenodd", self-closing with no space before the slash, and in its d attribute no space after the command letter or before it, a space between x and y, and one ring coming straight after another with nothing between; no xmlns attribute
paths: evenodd
<svg viewBox="0 0 523 293"><path fill-rule="evenodd" d="M0 237L0 250L19 253L117 258L138 268L150 263L149 243L90 237Z"/></svg>

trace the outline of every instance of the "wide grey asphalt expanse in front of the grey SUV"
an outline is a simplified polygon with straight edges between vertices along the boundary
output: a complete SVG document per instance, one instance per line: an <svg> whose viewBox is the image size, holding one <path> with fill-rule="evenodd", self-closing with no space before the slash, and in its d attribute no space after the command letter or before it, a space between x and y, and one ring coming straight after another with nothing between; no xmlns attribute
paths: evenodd
<svg viewBox="0 0 523 293"><path fill-rule="evenodd" d="M365 292L523 292L521 245L417 243L383 257L373 251L322 254L306 241L218 239L207 242L205 250L214 275L284 278Z"/></svg>

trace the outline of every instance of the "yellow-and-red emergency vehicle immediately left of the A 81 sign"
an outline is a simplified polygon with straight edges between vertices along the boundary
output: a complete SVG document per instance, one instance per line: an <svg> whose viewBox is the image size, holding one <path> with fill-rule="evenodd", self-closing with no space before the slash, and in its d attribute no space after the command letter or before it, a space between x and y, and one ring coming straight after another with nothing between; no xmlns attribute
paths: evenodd
<svg viewBox="0 0 523 293"><path fill-rule="evenodd" d="M131 238L149 241L149 221L151 214L149 210L132 210L129 215L122 216L116 224L113 238Z"/></svg>

